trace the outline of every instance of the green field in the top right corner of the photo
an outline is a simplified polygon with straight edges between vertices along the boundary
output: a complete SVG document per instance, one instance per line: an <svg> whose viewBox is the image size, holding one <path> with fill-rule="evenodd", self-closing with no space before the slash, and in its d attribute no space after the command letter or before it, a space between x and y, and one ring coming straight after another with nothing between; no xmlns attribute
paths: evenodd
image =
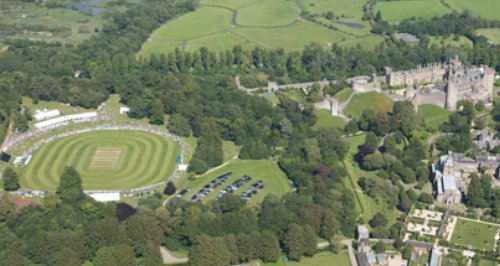
<svg viewBox="0 0 500 266"><path fill-rule="evenodd" d="M487 19L500 19L500 1L498 0L445 0L453 9L470 11L473 15Z"/></svg>

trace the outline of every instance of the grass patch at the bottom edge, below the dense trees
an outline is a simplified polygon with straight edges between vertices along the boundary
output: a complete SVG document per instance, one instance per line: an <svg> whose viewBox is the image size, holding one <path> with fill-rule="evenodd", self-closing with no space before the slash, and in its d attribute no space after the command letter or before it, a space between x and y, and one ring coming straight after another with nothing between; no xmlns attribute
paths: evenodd
<svg viewBox="0 0 500 266"><path fill-rule="evenodd" d="M349 255L346 251L340 251L338 254L329 252L318 253L313 257L304 257L300 261L280 261L277 263L265 263L263 266L349 266Z"/></svg>

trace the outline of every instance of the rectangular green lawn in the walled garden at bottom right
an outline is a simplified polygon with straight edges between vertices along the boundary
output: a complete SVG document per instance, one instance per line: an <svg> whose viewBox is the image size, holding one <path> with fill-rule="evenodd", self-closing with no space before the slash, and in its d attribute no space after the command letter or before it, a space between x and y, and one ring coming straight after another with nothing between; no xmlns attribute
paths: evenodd
<svg viewBox="0 0 500 266"><path fill-rule="evenodd" d="M451 243L472 246L475 249L493 250L498 226L458 219Z"/></svg>

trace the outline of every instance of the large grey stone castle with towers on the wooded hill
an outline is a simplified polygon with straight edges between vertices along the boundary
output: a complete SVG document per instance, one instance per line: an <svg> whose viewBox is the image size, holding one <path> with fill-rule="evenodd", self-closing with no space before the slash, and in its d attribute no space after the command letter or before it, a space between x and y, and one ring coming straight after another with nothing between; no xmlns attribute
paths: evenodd
<svg viewBox="0 0 500 266"><path fill-rule="evenodd" d="M449 63L434 63L416 69L392 71L386 67L385 83L389 87L407 88L405 96L415 105L436 104L454 110L460 100L489 102L493 97L495 70L465 67L458 57Z"/></svg>

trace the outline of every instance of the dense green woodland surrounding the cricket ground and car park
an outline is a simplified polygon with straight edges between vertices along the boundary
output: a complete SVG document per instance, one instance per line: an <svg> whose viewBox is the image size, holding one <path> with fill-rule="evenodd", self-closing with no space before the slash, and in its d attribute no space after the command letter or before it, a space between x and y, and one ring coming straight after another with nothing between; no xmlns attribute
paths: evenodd
<svg viewBox="0 0 500 266"><path fill-rule="evenodd" d="M229 140L243 146L242 158L267 158L275 153L298 192L281 198L268 195L258 208L245 206L233 195L206 205L175 199L166 208L161 207L162 195L152 195L132 208L124 203L100 204L86 197L78 173L67 169L57 193L40 205L16 209L8 195L2 196L0 261L6 265L159 265L160 244L172 250L191 250L192 265L275 261L282 252L298 260L314 254L318 236L352 237L357 223L370 223L374 237L396 239L399 247L401 221L390 225L382 214L369 221L358 218L355 195L342 182L349 144L341 135L359 129L369 132L355 158L361 168L377 171L376 176L360 180L366 194L403 212L414 203L432 203L431 195L417 194L403 185L423 185L429 178L429 167L422 162L429 147L414 133L425 125L411 103L398 102L389 113L364 112L345 132L313 131L317 118L311 106L302 108L284 95L272 106L237 90L233 74L245 77L260 71L278 82L341 80L382 72L385 66L406 69L445 61L457 54L467 63L500 70L500 47L483 38L474 38L472 48L429 46L425 38L418 45L407 45L388 38L373 51L336 46L325 50L311 44L301 52L286 53L237 46L220 53L202 48L193 53L177 50L136 58L149 33L195 7L195 1L189 0L138 4L114 14L97 36L77 47L10 41L9 50L0 53L0 132L4 134L9 121L19 128L23 124L19 121L26 119L20 110L21 95L35 101L96 107L110 93L119 93L131 107L131 117L148 117L151 123L163 124L164 115L169 114L169 130L198 137L191 171L202 173L222 163L221 140ZM456 20L471 29L493 23L456 14L437 20ZM459 28L441 30L441 24L433 23L409 20L398 29L441 35L457 33ZM436 25L436 33L431 25ZM82 74L75 78L77 71ZM450 134L438 141L437 148L461 151L467 148L461 145L470 145L470 112L477 107L463 105L443 126ZM500 120L497 107L494 118ZM471 191L468 204L492 207L493 215L498 216L496 195L500 193L477 196L486 179L473 180L471 186L477 189ZM333 245L332 250L335 248Z"/></svg>

